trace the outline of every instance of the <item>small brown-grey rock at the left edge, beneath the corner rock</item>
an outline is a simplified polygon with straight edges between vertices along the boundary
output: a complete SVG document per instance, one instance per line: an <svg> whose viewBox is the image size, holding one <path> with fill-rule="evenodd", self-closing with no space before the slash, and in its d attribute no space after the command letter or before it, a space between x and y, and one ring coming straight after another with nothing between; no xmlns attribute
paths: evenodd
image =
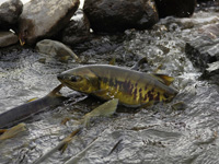
<svg viewBox="0 0 219 164"><path fill-rule="evenodd" d="M7 47L16 44L19 40L18 36L11 32L0 32L0 47Z"/></svg>

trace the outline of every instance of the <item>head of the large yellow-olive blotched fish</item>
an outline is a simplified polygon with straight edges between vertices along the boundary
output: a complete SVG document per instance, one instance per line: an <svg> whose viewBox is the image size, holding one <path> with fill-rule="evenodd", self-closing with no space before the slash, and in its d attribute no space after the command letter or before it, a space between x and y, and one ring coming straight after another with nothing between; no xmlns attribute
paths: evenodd
<svg viewBox="0 0 219 164"><path fill-rule="evenodd" d="M99 78L85 67L65 71L57 78L64 85L74 91L90 94L100 90Z"/></svg>

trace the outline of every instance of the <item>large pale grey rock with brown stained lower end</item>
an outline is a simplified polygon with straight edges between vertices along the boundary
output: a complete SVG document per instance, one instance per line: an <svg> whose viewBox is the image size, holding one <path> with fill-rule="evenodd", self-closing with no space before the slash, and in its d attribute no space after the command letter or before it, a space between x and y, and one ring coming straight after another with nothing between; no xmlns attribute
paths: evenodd
<svg viewBox="0 0 219 164"><path fill-rule="evenodd" d="M33 45L58 33L79 7L79 0L32 0L24 4L19 21L21 42Z"/></svg>

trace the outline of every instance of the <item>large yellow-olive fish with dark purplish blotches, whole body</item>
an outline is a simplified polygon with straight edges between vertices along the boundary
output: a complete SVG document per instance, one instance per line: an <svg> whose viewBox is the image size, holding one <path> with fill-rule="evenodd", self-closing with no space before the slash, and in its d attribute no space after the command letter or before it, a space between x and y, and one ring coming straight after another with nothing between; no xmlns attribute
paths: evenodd
<svg viewBox="0 0 219 164"><path fill-rule="evenodd" d="M145 73L110 65L89 65L67 70L57 79L69 89L128 107L147 106L152 102L170 102L178 91L170 84L174 78Z"/></svg>

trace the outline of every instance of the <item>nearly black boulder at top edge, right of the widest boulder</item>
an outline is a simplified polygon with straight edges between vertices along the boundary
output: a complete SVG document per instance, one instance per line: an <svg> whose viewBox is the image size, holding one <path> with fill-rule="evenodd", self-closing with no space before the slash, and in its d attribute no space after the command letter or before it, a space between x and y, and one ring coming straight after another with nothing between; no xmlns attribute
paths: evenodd
<svg viewBox="0 0 219 164"><path fill-rule="evenodd" d="M155 0L159 16L188 17L194 13L196 0Z"/></svg>

